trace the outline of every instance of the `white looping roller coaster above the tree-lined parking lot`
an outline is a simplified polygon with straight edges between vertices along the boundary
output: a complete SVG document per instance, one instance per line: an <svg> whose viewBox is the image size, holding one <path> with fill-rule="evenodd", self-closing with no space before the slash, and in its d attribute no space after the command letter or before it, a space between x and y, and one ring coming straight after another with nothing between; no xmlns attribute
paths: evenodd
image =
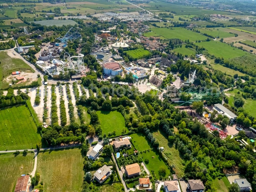
<svg viewBox="0 0 256 192"><path fill-rule="evenodd" d="M69 53L64 53L63 65L60 71L75 70L78 73L82 73L85 70L83 62L83 54L78 54L78 56L70 56Z"/></svg>

